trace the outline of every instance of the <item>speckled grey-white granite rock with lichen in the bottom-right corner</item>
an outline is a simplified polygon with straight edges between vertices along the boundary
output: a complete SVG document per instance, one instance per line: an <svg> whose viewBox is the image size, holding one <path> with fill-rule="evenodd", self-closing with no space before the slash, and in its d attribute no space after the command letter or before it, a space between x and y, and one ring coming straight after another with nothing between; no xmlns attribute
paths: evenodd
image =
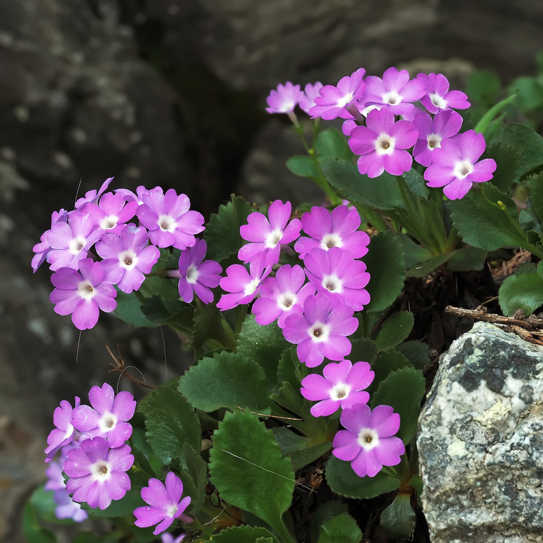
<svg viewBox="0 0 543 543"><path fill-rule="evenodd" d="M419 420L432 543L543 541L543 348L477 323L441 357Z"/></svg>

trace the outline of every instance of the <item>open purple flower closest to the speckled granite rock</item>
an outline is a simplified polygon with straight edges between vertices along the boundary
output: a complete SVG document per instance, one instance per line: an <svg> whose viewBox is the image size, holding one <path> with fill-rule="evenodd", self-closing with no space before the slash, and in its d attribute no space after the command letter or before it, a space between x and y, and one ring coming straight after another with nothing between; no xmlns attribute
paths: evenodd
<svg viewBox="0 0 543 543"><path fill-rule="evenodd" d="M390 406L373 411L364 403L343 409L340 430L334 437L332 454L351 462L359 477L377 475L383 466L395 466L405 453L402 440L392 437L400 428L400 415Z"/></svg>

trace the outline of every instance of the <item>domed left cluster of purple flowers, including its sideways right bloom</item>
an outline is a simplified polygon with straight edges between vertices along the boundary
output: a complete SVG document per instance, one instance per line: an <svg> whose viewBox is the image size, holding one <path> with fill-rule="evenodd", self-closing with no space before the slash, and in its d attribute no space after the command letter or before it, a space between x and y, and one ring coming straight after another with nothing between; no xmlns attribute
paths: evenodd
<svg viewBox="0 0 543 543"><path fill-rule="evenodd" d="M51 228L34 247L34 271L47 261L55 272L50 295L55 312L71 314L80 330L92 328L99 310L109 313L117 306L113 285L127 294L141 287L159 260L159 247L181 250L174 274L180 297L190 303L196 293L205 304L211 302L210 287L218 286L222 269L217 262L203 262L206 244L195 235L204 230L204 217L173 189L105 192L112 179L77 200L73 211L53 213ZM139 226L130 222L135 217Z"/></svg>

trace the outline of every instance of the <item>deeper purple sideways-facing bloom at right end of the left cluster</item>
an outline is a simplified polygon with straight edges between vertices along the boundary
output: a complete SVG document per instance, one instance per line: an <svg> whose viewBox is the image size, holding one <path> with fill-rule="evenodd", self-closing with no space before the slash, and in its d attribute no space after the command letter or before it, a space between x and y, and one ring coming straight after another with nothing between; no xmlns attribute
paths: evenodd
<svg viewBox="0 0 543 543"><path fill-rule="evenodd" d="M219 286L223 268L214 260L203 261L206 252L207 243L197 239L193 247L181 251L179 271L169 273L179 277L179 296L187 304L194 299L194 293L204 304L210 304L213 301L211 289Z"/></svg>

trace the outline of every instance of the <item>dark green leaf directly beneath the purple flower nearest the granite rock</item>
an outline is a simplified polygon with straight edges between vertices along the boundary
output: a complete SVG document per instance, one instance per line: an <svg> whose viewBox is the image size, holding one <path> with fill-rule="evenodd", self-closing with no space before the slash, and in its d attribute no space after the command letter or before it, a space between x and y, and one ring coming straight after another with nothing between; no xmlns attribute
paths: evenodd
<svg viewBox="0 0 543 543"><path fill-rule="evenodd" d="M400 486L399 479L382 471L375 477L359 477L351 468L350 462L335 456L330 457L326 466L326 481L332 492L357 500L369 500L392 492Z"/></svg>

